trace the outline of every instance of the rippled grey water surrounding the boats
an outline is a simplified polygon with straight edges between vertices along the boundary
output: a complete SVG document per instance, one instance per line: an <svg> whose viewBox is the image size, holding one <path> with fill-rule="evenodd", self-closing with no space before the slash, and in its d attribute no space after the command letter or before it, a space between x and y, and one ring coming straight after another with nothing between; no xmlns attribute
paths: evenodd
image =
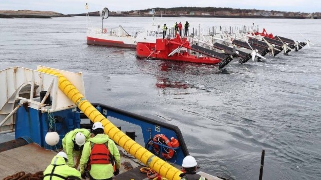
<svg viewBox="0 0 321 180"><path fill-rule="evenodd" d="M150 17L109 17L139 30ZM135 50L86 44L86 18L0 19L0 69L37 64L84 73L86 97L175 124L202 171L237 180L320 180L320 19L156 18L215 26L260 25L315 44L290 55L215 66L136 59ZM92 17L94 26L100 17ZM90 25L90 22L88 23Z"/></svg>

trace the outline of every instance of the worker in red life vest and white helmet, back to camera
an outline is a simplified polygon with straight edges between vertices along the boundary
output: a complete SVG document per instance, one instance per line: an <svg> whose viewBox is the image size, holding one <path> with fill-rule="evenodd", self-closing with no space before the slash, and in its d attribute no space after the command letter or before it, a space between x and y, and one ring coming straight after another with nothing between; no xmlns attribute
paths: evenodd
<svg viewBox="0 0 321 180"><path fill-rule="evenodd" d="M104 127L100 122L92 126L94 137L84 145L80 159L81 178L86 179L89 171L90 180L112 180L113 175L119 174L120 154L116 144L104 134ZM115 172L113 168L115 161Z"/></svg>

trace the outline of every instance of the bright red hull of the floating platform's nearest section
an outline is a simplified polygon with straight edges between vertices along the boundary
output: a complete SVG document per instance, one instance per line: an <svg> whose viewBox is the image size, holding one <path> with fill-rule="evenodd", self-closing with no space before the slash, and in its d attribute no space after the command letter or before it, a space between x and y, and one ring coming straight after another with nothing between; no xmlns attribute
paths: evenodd
<svg viewBox="0 0 321 180"><path fill-rule="evenodd" d="M188 45L189 46L189 45ZM156 39L156 43L137 43L136 55L140 58L153 57L161 60L183 61L201 64L218 64L221 60L213 57L199 57L191 55L187 51L174 53L168 56L179 45L168 39ZM185 47L185 46L184 46ZM156 50L155 50L156 49Z"/></svg>

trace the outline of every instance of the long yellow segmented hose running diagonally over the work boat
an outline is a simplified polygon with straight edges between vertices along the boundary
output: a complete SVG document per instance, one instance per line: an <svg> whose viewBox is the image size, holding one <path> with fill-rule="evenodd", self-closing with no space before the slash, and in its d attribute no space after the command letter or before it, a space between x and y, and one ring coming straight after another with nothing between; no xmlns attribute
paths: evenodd
<svg viewBox="0 0 321 180"><path fill-rule="evenodd" d="M61 91L63 91L69 99L74 102L78 108L92 121L101 122L104 126L104 132L111 138L115 143L122 147L125 151L129 152L136 159L140 160L146 166L156 171L168 180L180 180L179 175L182 173L177 168L166 163L164 160L158 158L144 147L140 146L134 140L129 138L125 133L120 131L115 125L113 125L105 116L103 116L95 107L93 107L83 95L73 86L70 81L68 81L60 73L48 69L41 68L38 69L40 72L53 74L58 76L58 84Z"/></svg>

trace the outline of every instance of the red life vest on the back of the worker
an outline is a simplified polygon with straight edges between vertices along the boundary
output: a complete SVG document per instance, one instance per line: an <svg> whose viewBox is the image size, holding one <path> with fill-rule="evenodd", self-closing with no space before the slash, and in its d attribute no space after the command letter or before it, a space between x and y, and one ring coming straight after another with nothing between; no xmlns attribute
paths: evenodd
<svg viewBox="0 0 321 180"><path fill-rule="evenodd" d="M93 164L112 164L112 155L108 150L108 141L104 144L94 144L90 143L91 152L89 156L89 162L87 169L90 170L90 165Z"/></svg>

